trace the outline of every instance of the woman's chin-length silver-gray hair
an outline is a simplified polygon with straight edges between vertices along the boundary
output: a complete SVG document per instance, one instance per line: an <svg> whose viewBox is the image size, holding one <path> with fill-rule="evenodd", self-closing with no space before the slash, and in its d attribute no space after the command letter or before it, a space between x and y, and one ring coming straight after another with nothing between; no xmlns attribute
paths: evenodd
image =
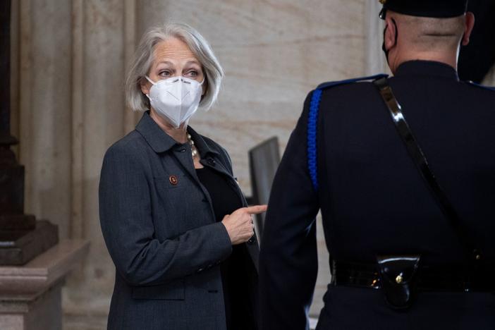
<svg viewBox="0 0 495 330"><path fill-rule="evenodd" d="M221 80L224 78L218 59L212 47L197 30L183 23L166 23L152 27L142 35L134 60L126 78L126 101L133 111L149 110L149 99L141 92L141 82L149 73L154 60L154 47L166 39L177 38L188 45L203 68L207 90L200 109L209 110L218 97Z"/></svg>

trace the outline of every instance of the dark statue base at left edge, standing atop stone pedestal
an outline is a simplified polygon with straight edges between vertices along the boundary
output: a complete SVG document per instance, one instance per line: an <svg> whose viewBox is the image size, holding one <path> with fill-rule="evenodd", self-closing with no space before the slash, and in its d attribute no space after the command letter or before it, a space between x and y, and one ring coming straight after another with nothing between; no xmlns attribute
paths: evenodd
<svg viewBox="0 0 495 330"><path fill-rule="evenodd" d="M11 150L11 1L0 5L0 25L0 265L20 265L59 238L56 226L24 214L24 166Z"/></svg>

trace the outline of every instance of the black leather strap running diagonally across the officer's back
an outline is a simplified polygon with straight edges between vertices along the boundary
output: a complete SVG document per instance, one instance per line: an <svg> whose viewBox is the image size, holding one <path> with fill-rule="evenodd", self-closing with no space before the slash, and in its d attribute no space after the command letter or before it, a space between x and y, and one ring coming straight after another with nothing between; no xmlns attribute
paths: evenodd
<svg viewBox="0 0 495 330"><path fill-rule="evenodd" d="M374 80L373 84L378 88L381 97L384 99L387 109L389 109L392 121L396 126L398 135L401 136L408 153L414 161L416 168L420 171L424 182L427 184L429 190L432 192L434 199L439 205L444 216L450 221L456 235L460 242L464 245L465 250L468 252L468 257L471 260L479 261L482 259L482 254L477 248L475 242L468 236L468 231L463 227L463 223L460 221L456 210L453 208L451 202L448 200L444 190L440 187L439 183L432 170L428 166L428 161L422 152L422 149L417 144L417 141L412 135L412 131L405 121L403 116L401 105L398 103L396 97L393 95L392 89L389 85L387 78L380 78Z"/></svg>

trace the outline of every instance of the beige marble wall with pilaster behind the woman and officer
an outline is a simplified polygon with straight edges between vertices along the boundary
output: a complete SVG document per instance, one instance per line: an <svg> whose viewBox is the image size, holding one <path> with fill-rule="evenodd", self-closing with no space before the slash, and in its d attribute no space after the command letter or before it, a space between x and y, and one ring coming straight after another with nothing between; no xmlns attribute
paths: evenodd
<svg viewBox="0 0 495 330"><path fill-rule="evenodd" d="M224 87L191 125L228 149L250 195L247 149L276 135L283 150L307 92L384 70L378 11L369 0L13 1L12 130L26 212L58 224L62 238L91 241L63 291L66 329L106 324L114 266L99 228L99 169L140 117L126 109L123 80L142 32L177 20L211 42ZM329 282L321 230L318 237L313 315Z"/></svg>

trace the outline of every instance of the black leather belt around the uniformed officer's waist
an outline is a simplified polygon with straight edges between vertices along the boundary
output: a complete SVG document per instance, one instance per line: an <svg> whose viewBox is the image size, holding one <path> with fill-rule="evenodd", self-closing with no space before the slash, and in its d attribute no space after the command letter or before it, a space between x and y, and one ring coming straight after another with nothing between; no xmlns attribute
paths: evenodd
<svg viewBox="0 0 495 330"><path fill-rule="evenodd" d="M398 277L397 281L401 279ZM334 286L382 288L377 264L333 262ZM495 292L495 266L476 271L462 267L420 267L415 289L417 291Z"/></svg>

